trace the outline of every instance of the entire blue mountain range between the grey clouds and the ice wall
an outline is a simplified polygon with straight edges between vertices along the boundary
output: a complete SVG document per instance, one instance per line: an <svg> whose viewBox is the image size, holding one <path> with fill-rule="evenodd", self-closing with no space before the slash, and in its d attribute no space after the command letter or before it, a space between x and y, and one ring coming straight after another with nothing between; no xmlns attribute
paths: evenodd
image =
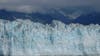
<svg viewBox="0 0 100 56"><path fill-rule="evenodd" d="M30 19L34 22L43 24L51 24L53 20L61 21L65 24L80 23L80 24L100 24L100 13L95 12L91 7L67 7L67 8L52 8L42 12L17 12L0 10L0 18L5 20Z"/></svg>

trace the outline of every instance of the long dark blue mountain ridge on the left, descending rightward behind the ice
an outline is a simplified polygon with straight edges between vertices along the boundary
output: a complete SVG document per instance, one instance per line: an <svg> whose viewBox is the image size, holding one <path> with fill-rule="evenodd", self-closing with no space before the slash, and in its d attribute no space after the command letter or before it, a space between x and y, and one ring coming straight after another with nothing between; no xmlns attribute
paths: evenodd
<svg viewBox="0 0 100 56"><path fill-rule="evenodd" d="M52 20L59 20L65 23L70 21L67 17L64 17L62 14L55 11L55 13L22 13L22 12L15 12L15 11L6 11L0 10L0 18L5 20L13 21L15 19L30 19L34 22L40 22L43 24L51 23Z"/></svg>

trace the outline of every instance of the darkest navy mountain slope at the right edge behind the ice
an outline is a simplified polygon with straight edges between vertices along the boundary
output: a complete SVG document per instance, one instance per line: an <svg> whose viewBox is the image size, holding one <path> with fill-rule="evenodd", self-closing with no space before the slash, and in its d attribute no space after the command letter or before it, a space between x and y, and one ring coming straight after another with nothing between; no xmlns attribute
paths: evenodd
<svg viewBox="0 0 100 56"><path fill-rule="evenodd" d="M75 23L80 23L80 24L100 24L100 13L98 12L93 12L90 14L86 15L81 15L78 17L75 21Z"/></svg>

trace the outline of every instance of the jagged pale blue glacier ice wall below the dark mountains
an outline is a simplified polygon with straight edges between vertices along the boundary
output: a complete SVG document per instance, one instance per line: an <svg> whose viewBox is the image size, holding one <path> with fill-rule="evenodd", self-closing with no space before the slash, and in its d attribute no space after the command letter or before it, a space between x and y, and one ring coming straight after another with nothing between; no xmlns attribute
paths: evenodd
<svg viewBox="0 0 100 56"><path fill-rule="evenodd" d="M100 56L100 25L0 20L0 55Z"/></svg>

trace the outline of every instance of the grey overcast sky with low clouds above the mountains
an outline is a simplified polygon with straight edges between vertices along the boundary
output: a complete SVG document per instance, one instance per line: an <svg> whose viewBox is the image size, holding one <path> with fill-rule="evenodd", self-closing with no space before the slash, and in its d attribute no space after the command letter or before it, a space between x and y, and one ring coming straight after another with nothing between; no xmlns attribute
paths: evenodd
<svg viewBox="0 0 100 56"><path fill-rule="evenodd" d="M0 9L37 11L46 8L68 6L92 6L99 8L100 0L0 0Z"/></svg>

